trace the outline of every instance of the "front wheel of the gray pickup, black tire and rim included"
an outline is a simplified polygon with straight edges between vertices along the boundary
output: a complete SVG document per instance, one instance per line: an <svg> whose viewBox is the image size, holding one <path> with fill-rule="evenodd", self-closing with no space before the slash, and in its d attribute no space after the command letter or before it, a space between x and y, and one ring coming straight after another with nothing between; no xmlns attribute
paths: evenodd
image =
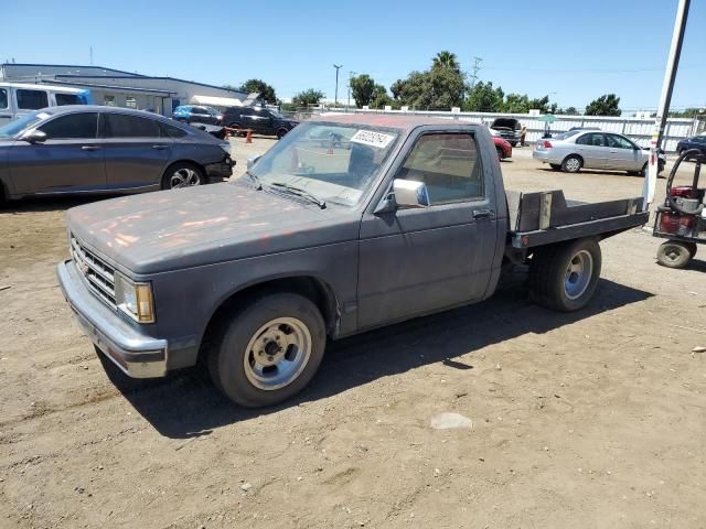
<svg viewBox="0 0 706 529"><path fill-rule="evenodd" d="M272 406L301 391L319 369L327 344L321 313L293 293L255 299L234 311L217 335L208 356L211 378L247 408ZM282 347L282 341L290 343Z"/></svg>

